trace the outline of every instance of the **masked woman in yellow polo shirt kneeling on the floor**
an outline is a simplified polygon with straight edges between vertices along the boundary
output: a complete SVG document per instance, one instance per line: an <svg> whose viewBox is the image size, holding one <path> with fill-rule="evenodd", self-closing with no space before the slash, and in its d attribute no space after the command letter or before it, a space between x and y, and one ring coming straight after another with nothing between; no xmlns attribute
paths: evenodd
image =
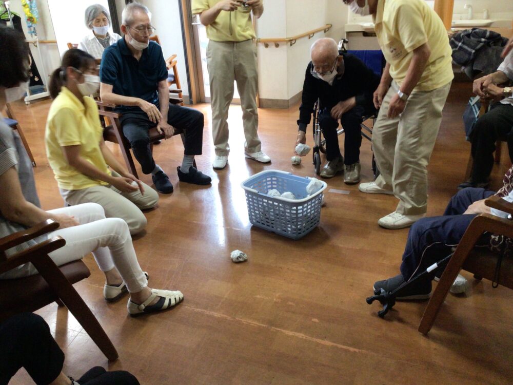
<svg viewBox="0 0 513 385"><path fill-rule="evenodd" d="M67 51L63 66L53 72L46 153L67 204L98 203L107 218L124 219L133 235L146 227L141 210L154 207L159 196L105 145L98 108L89 97L100 85L95 72L94 58L79 49Z"/></svg>

